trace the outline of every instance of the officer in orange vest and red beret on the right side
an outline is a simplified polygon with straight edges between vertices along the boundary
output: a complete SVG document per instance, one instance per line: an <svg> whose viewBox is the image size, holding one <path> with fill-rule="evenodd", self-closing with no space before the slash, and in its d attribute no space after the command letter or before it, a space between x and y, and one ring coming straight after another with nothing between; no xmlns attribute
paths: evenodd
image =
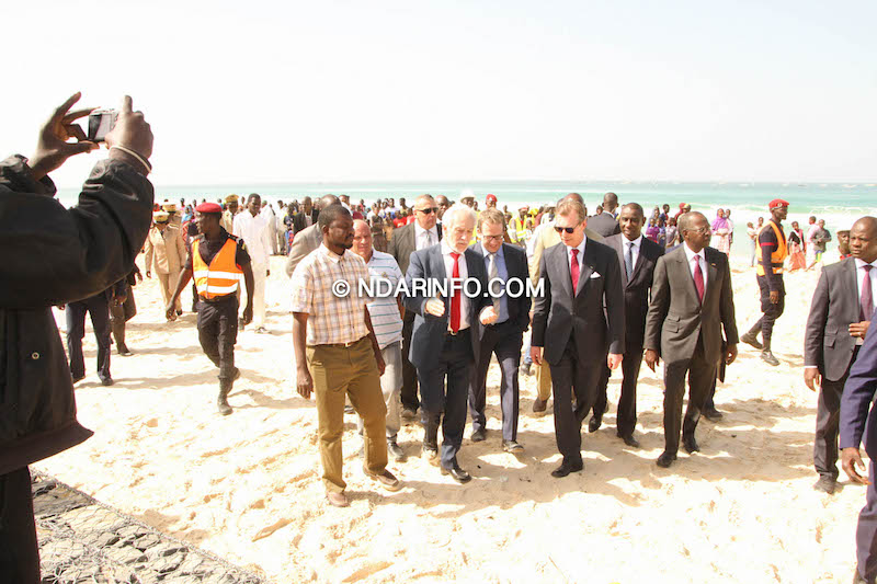
<svg viewBox="0 0 877 584"><path fill-rule="evenodd" d="M762 318L740 340L761 350L761 358L767 365L776 367L779 360L771 352L771 335L774 322L785 308L786 288L783 284L783 262L788 255L786 234L783 232L783 219L788 215L788 202L775 198L768 205L771 220L759 233L761 259L755 268L759 289L761 290ZM762 342L758 335L761 331Z"/></svg>

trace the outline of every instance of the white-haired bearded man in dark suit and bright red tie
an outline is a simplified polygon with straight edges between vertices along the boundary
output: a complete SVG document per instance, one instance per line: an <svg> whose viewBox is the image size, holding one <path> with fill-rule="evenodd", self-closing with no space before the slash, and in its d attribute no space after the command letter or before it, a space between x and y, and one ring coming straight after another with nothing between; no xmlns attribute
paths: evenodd
<svg viewBox="0 0 877 584"><path fill-rule="evenodd" d="M455 205L445 213L444 224L445 239L441 243L411 254L405 276L409 289L405 307L415 314L409 359L417 367L420 381L423 456L430 461L438 458L441 424L442 473L449 473L462 484L471 479L457 462L457 453L466 428L469 377L478 357L472 325L492 324L497 313L486 294L469 298L463 289L452 286L452 280L465 282L469 293L475 293L476 286L487 291L485 257L468 249L475 230L475 211ZM424 290L424 283L447 288Z"/></svg>

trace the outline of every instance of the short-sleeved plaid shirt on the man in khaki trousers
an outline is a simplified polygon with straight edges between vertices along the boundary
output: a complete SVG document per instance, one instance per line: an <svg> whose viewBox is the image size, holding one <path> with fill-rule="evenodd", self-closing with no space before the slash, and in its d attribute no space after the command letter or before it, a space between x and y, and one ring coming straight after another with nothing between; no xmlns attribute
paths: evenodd
<svg viewBox="0 0 877 584"><path fill-rule="evenodd" d="M337 255L320 245L299 262L293 273L293 312L309 314L308 345L352 343L368 334L364 318L368 299L358 295L361 279L368 280L368 270L353 252ZM339 280L349 284L343 298L332 290Z"/></svg>

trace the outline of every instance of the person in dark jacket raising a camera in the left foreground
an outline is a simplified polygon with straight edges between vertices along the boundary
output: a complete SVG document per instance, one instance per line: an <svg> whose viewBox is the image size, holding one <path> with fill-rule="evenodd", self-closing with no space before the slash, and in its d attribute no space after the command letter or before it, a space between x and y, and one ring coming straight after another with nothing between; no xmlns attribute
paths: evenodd
<svg viewBox="0 0 877 584"><path fill-rule="evenodd" d="M39 550L27 465L91 436L76 399L52 307L105 290L130 272L149 230L152 131L125 98L100 161L64 208L48 173L98 148L70 112L77 93L41 130L31 159L0 162L0 575L39 582ZM76 140L69 142L68 140Z"/></svg>

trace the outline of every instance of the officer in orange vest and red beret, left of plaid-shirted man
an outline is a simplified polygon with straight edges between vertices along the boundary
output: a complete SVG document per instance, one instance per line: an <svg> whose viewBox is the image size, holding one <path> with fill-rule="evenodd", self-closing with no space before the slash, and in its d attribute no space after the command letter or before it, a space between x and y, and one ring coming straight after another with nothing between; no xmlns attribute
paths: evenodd
<svg viewBox="0 0 877 584"><path fill-rule="evenodd" d="M235 367L235 343L238 340L238 288L240 275L247 285L244 324L253 318L253 272L250 254L243 240L230 236L221 226L223 208L216 203L202 203L195 207L195 221L201 234L192 240L192 250L185 263L173 297L166 307L169 320L174 313L176 299L195 277L198 293L198 341L204 353L219 367L219 413L228 415L228 393L240 371Z"/></svg>

